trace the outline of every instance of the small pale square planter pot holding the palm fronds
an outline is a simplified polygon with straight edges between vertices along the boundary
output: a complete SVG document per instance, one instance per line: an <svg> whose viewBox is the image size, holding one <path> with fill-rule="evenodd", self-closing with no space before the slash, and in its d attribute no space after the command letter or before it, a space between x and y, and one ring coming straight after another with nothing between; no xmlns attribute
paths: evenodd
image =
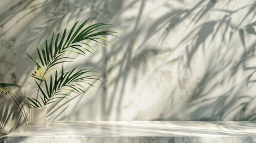
<svg viewBox="0 0 256 143"><path fill-rule="evenodd" d="M29 108L30 125L46 125L47 108Z"/></svg>

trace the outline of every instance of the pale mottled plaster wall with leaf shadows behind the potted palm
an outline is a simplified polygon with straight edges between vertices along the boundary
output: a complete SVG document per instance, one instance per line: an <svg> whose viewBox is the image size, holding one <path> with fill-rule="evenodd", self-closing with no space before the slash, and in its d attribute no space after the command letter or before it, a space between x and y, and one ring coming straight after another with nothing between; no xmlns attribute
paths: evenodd
<svg viewBox="0 0 256 143"><path fill-rule="evenodd" d="M24 52L36 57L53 31L91 17L119 32L115 47L76 60L104 82L49 107L48 120L256 118L256 1L0 1L0 81L23 86L17 95L35 95ZM9 97L0 102L3 136L22 121Z"/></svg>

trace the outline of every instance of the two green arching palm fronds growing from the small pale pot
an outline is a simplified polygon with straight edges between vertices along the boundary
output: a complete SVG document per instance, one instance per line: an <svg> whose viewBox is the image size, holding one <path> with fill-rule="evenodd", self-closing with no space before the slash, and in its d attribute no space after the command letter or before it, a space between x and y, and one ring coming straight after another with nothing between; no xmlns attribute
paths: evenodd
<svg viewBox="0 0 256 143"><path fill-rule="evenodd" d="M72 62L75 59L72 57L72 54L67 55L67 53L72 52L79 55L93 54L93 48L89 45L88 41L94 41L104 47L106 46L101 41L113 45L106 38L102 37L106 35L116 37L116 32L104 30L112 27L112 25L97 23L86 27L88 20L76 28L79 22L77 21L73 24L68 35L67 29L64 29L62 36L58 33L55 37L53 33L50 43L45 41L45 46L37 48L39 62L27 54L35 63L36 71L30 76L35 79L36 86L38 87L36 98L27 97L32 107L45 107L61 98L67 98L70 96L67 92L70 91L81 94L86 91L84 88L85 84L92 86L92 80L99 79L98 76L91 74L94 72L92 69L76 70L76 68L73 68L65 71L63 66L65 63ZM58 70L58 67L61 67L60 70Z"/></svg>

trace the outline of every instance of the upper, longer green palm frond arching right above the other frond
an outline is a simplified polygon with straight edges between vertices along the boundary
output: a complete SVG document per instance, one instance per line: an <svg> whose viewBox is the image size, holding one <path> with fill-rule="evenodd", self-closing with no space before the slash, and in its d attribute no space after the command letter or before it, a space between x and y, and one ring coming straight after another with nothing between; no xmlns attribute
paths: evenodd
<svg viewBox="0 0 256 143"><path fill-rule="evenodd" d="M73 51L76 54L80 54L80 55L87 55L88 52L92 54L93 49L86 41L94 41L104 47L106 47L106 45L103 45L103 43L97 40L101 40L101 41L110 43L110 45L113 45L106 38L100 37L102 35L116 36L115 33L117 32L113 32L110 30L103 30L103 29L112 27L112 25L106 24L106 23L97 23L97 24L92 24L91 26L85 27L88 23L88 20L84 21L84 23L82 23L76 29L76 25L78 24L78 21L77 21L73 25L68 36L66 36L66 33L67 33L66 29L64 30L61 38L60 38L60 35L61 35L60 33L57 34L56 38L54 38L54 33L53 33L50 40L51 42L48 44L48 41L45 41L45 46L44 47L41 46L40 48L37 49L40 64L37 63L29 55L30 59L33 61L33 63L36 64L37 67L39 68L41 68L41 66L44 67L45 69L44 74L46 74L54 66L57 66L58 64L61 64L61 63L72 61L70 60L70 57L63 57L63 55L66 54L66 52Z"/></svg>

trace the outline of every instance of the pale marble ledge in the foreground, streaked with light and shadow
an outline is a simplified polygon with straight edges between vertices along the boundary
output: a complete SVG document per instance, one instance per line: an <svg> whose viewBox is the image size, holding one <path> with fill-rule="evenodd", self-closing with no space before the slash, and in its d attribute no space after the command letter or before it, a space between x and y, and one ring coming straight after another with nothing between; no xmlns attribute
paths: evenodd
<svg viewBox="0 0 256 143"><path fill-rule="evenodd" d="M57 121L23 125L5 142L256 142L254 122Z"/></svg>

